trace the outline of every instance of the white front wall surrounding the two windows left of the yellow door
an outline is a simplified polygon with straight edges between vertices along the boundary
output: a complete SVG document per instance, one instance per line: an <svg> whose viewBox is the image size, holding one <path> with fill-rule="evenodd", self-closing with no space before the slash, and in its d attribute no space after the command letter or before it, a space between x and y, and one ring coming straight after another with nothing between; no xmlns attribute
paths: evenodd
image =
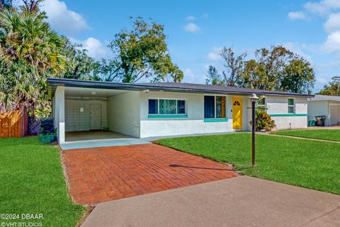
<svg viewBox="0 0 340 227"><path fill-rule="evenodd" d="M204 96L213 94L191 94L179 92L140 92L140 136L187 135L196 133L224 133L232 129L232 96L226 96L228 121L204 121ZM185 99L188 118L148 118L149 99ZM246 109L244 105L244 109ZM246 126L247 114L244 111Z"/></svg>

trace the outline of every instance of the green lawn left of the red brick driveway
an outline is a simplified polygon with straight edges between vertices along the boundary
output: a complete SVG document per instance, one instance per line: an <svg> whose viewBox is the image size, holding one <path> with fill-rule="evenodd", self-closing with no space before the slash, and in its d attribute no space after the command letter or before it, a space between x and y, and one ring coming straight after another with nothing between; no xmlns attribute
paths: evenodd
<svg viewBox="0 0 340 227"><path fill-rule="evenodd" d="M56 146L36 137L2 138L0 153L0 214L42 214L42 226L77 225L86 208L67 194Z"/></svg>

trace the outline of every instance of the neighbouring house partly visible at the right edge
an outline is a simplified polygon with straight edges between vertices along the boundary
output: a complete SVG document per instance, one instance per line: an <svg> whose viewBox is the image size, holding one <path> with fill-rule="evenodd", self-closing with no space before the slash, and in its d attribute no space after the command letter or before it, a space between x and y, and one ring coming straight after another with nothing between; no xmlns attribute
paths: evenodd
<svg viewBox="0 0 340 227"><path fill-rule="evenodd" d="M308 99L308 121L315 116L325 116L325 126L340 123L340 96L315 95Z"/></svg>

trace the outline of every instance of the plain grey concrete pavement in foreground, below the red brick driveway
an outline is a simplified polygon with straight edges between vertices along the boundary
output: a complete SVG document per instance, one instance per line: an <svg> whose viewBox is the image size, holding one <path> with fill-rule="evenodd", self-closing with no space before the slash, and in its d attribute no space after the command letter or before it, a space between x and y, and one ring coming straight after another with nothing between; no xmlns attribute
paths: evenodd
<svg viewBox="0 0 340 227"><path fill-rule="evenodd" d="M340 226L340 196L253 177L98 204L88 226Z"/></svg>

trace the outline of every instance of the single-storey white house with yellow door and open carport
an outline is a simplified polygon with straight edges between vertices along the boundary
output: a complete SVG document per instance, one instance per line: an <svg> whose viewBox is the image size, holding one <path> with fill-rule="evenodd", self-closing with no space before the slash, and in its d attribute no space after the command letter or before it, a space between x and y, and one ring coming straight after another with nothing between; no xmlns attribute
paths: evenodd
<svg viewBox="0 0 340 227"><path fill-rule="evenodd" d="M108 130L136 138L249 131L249 96L278 129L307 128L306 94L187 83L123 84L47 79L60 143L65 131Z"/></svg>

